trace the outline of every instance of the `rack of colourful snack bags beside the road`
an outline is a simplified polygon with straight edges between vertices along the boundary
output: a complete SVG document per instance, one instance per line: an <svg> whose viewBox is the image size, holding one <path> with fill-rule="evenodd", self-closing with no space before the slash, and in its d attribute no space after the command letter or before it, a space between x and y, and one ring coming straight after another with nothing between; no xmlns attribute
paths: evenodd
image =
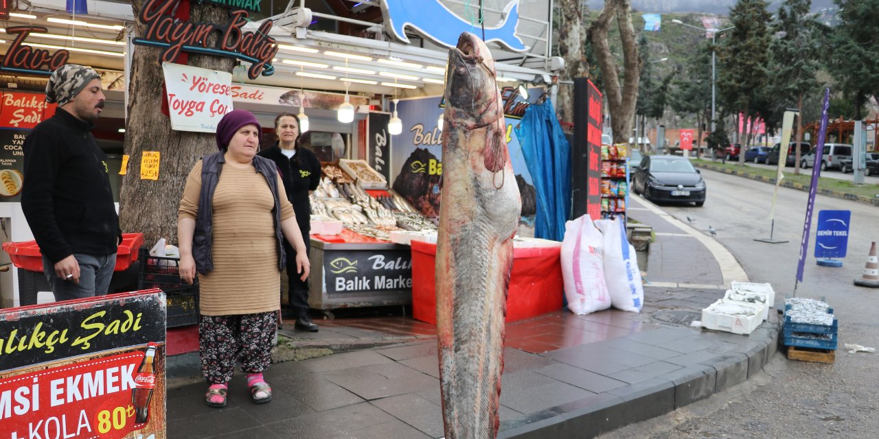
<svg viewBox="0 0 879 439"><path fill-rule="evenodd" d="M601 145L601 218L626 220L628 145Z"/></svg>

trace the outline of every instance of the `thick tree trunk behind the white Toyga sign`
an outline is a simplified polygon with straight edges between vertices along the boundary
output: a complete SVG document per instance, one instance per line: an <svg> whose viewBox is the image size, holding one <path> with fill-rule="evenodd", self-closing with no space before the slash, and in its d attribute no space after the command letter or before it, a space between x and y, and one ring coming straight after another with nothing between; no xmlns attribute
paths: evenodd
<svg viewBox="0 0 879 439"><path fill-rule="evenodd" d="M145 0L134 0L134 16L140 13ZM225 23L229 12L220 6L192 4L194 22ZM142 36L146 26L134 21L135 32ZM219 38L213 32L213 39ZM163 71L160 49L135 46L128 83L128 123L125 133L125 154L130 157L128 173L122 178L120 195L120 226L124 232L140 232L144 244L152 246L159 238L177 242L177 211L186 176L202 155L215 152L212 133L172 131L171 119L159 111L163 102ZM209 55L189 55L190 66L231 72L235 61ZM161 155L159 179L141 180L140 162L144 151Z"/></svg>

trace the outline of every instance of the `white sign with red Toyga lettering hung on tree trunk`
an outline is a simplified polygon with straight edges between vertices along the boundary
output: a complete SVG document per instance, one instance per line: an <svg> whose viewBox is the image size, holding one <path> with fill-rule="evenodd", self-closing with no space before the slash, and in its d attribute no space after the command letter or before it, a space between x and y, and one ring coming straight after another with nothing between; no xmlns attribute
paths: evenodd
<svg viewBox="0 0 879 439"><path fill-rule="evenodd" d="M163 62L171 129L216 132L223 115L232 111L232 74Z"/></svg>

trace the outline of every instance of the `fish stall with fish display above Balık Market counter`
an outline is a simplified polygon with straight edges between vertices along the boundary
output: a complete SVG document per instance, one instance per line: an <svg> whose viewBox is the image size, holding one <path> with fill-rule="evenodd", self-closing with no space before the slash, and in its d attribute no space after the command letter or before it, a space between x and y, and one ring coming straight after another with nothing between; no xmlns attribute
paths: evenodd
<svg viewBox="0 0 879 439"><path fill-rule="evenodd" d="M392 242L390 234L436 227L389 191L366 162L323 163L322 168L321 184L311 196L309 306L409 305L410 248Z"/></svg>

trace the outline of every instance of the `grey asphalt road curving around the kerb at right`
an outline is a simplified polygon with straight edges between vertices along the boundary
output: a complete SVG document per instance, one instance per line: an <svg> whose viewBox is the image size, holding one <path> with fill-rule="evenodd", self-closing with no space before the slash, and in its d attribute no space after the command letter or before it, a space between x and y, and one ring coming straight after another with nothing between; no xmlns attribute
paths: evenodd
<svg viewBox="0 0 879 439"><path fill-rule="evenodd" d="M838 172L832 174L839 174ZM749 179L702 170L708 183L703 207L662 206L679 219L694 218L694 227L716 228L716 240L729 248L752 281L771 282L776 303L794 290L796 263L803 231L807 193L780 188L775 219L775 239L782 244L752 241L768 237L767 219L773 186ZM845 265L818 267L814 252L817 211L852 211L852 229ZM861 277L870 241L879 241L875 218L879 208L837 198L817 197L798 297L825 296L839 318L839 346L858 343L879 349L879 290L855 287ZM693 261L692 263L699 263ZM679 409L654 420L621 428L606 439L696 439L706 437L872 439L879 431L879 353L849 354L837 351L836 363L788 361L776 354L766 371L728 392Z"/></svg>

